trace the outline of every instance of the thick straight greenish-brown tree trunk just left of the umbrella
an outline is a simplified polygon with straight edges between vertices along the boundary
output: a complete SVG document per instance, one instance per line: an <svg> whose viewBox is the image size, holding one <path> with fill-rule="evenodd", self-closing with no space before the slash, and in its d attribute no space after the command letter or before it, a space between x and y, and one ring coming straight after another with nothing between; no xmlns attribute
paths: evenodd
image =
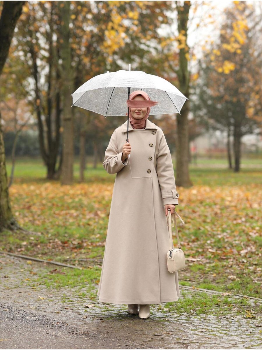
<svg viewBox="0 0 262 350"><path fill-rule="evenodd" d="M69 185L73 183L73 163L74 163L74 124L72 113L71 90L73 88L73 68L71 67L71 45L70 45L70 4L71 1L61 1L63 7L61 11L61 77L63 78L63 164L61 173L61 184ZM63 38L63 39L62 39Z"/></svg>

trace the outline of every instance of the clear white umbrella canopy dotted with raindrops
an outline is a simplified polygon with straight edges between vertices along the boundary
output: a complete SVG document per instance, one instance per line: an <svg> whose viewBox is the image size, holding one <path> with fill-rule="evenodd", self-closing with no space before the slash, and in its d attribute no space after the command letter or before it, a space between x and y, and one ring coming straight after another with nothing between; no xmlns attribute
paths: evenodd
<svg viewBox="0 0 262 350"><path fill-rule="evenodd" d="M143 90L151 100L159 101L157 105L151 107L150 115L180 114L185 100L188 99L166 79L143 71L131 71L129 64L129 70L118 70L112 73L107 71L89 79L71 94L72 106L78 106L105 117L126 116L128 87L131 88L131 93Z"/></svg>

